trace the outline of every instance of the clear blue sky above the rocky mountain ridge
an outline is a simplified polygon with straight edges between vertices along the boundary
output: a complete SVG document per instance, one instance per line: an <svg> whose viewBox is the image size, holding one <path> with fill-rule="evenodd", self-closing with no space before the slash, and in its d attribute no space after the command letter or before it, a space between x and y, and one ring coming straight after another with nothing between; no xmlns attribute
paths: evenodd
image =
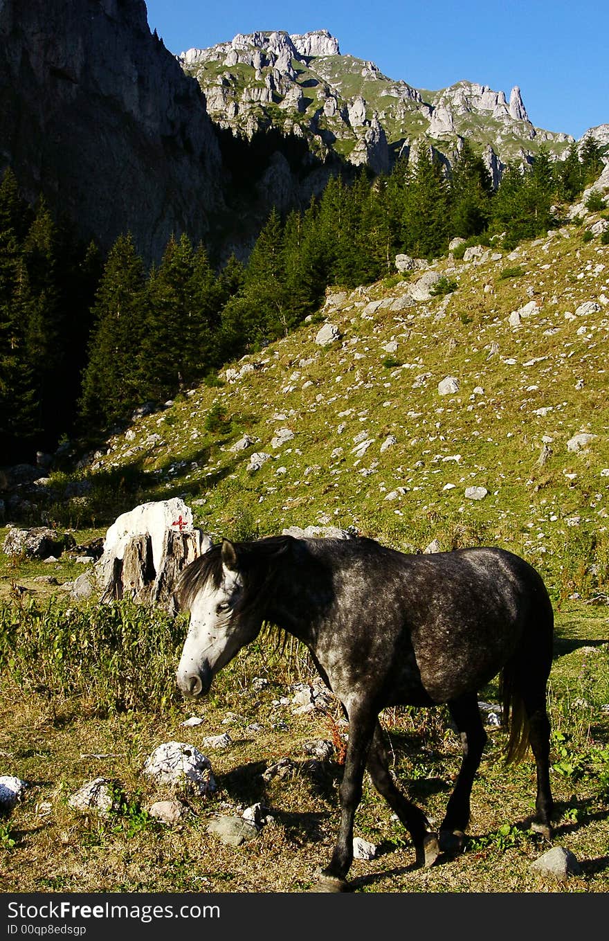
<svg viewBox="0 0 609 941"><path fill-rule="evenodd" d="M179 54L255 29L328 29L342 53L370 59L390 78L435 90L461 79L507 97L519 85L537 127L581 137L609 123L607 0L146 0L148 24Z"/></svg>

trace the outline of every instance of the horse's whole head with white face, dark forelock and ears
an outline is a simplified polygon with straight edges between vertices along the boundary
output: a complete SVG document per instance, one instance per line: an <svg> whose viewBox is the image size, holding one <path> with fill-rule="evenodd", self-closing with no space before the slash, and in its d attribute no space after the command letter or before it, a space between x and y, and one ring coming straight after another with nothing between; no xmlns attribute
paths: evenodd
<svg viewBox="0 0 609 941"><path fill-rule="evenodd" d="M258 635L262 616L246 593L238 550L226 539L184 570L177 592L191 614L178 666L184 695L208 693L216 673Z"/></svg>

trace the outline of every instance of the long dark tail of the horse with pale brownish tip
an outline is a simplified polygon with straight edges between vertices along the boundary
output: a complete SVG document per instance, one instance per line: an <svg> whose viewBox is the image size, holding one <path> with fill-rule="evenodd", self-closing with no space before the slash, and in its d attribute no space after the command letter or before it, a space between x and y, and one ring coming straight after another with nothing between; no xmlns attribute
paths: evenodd
<svg viewBox="0 0 609 941"><path fill-rule="evenodd" d="M503 725L507 728L507 762L522 761L529 746L528 717L533 711L546 710L546 689L553 655L554 611L537 572L535 582L523 634L500 677Z"/></svg>

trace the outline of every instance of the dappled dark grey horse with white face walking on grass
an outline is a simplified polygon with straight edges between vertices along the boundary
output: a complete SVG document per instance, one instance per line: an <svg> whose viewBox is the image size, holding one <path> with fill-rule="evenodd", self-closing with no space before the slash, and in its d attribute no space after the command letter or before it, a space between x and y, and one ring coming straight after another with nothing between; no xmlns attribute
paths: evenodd
<svg viewBox="0 0 609 941"><path fill-rule="evenodd" d="M498 548L406 555L372 539L223 540L182 573L178 607L190 628L178 667L183 694L201 696L263 623L310 650L349 720L336 847L315 891L345 891L355 810L367 769L410 831L416 862L461 849L487 736L477 692L501 673L507 760L530 743L537 763L536 828L551 837L546 684L554 614L539 573ZM461 770L439 834L396 787L379 713L445 703L461 734Z"/></svg>

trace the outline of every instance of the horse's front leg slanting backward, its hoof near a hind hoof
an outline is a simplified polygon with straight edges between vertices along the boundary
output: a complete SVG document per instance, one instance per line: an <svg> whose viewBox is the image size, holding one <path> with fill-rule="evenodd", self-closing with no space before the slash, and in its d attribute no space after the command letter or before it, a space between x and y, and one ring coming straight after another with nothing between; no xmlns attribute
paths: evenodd
<svg viewBox="0 0 609 941"><path fill-rule="evenodd" d="M429 832L429 821L422 810L398 790L393 780L383 744L383 730L377 722L367 759L367 771L374 787L383 795L387 804L398 815L398 820L413 837L416 862L419 866L431 866L440 853L438 837Z"/></svg>

